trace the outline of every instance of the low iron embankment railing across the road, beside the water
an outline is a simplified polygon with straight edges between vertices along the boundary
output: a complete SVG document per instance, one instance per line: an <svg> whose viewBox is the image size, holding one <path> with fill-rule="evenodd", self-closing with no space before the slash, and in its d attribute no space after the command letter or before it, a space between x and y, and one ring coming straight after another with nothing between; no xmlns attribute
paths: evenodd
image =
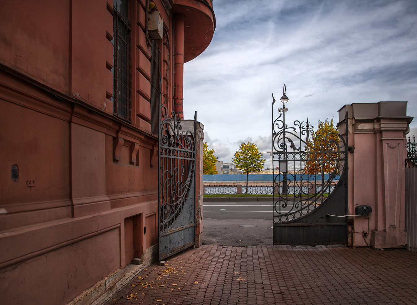
<svg viewBox="0 0 417 305"><path fill-rule="evenodd" d="M328 190L324 190L324 193L332 193L334 188L336 187L337 181L335 183L331 183L328 186ZM316 184L316 192L322 191L322 186ZM308 186L302 186L302 191L300 190L300 186L289 184L286 186L288 194L294 193L303 193L308 194L311 193ZM274 187L272 185L264 185L264 184L251 184L248 185L248 194L252 195L272 195L274 191ZM278 193L281 193L281 187L277 190ZM313 191L314 192L314 191ZM236 185L204 185L204 193L206 195L234 195L237 193L237 186ZM246 185L242 185L242 193L246 194Z"/></svg>

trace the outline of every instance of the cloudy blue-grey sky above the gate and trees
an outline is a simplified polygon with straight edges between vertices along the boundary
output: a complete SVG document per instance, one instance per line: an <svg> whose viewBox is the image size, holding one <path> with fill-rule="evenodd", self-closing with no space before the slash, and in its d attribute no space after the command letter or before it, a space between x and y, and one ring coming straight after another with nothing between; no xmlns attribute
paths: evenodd
<svg viewBox="0 0 417 305"><path fill-rule="evenodd" d="M334 117L353 102L408 101L417 116L417 2L214 0L210 46L184 66L184 116L215 155L242 141L271 150L271 94L287 122ZM417 118L410 127L417 130ZM266 162L269 163L269 162ZM266 164L269 166L269 164Z"/></svg>

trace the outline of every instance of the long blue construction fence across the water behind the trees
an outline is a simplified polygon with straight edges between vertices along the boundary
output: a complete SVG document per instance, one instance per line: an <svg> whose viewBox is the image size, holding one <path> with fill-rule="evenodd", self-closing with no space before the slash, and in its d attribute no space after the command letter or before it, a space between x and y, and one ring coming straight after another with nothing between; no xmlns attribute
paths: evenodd
<svg viewBox="0 0 417 305"><path fill-rule="evenodd" d="M272 174L255 174L255 175L248 175L248 181L272 181L274 175ZM280 179L282 180L282 174L280 174ZM294 175L287 174L287 178L290 180L294 180ZM297 181L306 181L306 180L316 180L318 182L322 181L322 175L307 175L307 174L296 174L295 180ZM329 174L324 174L324 181L329 179ZM337 175L334 180L339 180L339 175ZM216 174L216 175L203 175L203 182L211 182L211 181L244 181L246 182L246 175L232 175L232 174Z"/></svg>

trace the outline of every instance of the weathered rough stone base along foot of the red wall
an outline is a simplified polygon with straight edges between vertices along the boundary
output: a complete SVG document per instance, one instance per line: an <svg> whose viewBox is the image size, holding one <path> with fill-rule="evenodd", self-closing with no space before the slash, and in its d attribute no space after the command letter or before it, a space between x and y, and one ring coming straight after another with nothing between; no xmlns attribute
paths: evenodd
<svg viewBox="0 0 417 305"><path fill-rule="evenodd" d="M158 257L158 244L155 244L142 255L142 264L128 264L125 269L117 269L103 280L98 281L89 289L80 293L66 305L102 305L115 293L125 287L146 267L149 267Z"/></svg>

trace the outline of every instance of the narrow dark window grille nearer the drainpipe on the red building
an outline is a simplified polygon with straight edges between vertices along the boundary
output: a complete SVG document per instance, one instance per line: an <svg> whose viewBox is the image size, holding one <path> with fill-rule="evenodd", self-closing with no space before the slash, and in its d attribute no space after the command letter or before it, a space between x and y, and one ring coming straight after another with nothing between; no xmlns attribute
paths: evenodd
<svg viewBox="0 0 417 305"><path fill-rule="evenodd" d="M161 52L158 41L152 40L151 46L151 132L158 134L159 98L161 94Z"/></svg>

